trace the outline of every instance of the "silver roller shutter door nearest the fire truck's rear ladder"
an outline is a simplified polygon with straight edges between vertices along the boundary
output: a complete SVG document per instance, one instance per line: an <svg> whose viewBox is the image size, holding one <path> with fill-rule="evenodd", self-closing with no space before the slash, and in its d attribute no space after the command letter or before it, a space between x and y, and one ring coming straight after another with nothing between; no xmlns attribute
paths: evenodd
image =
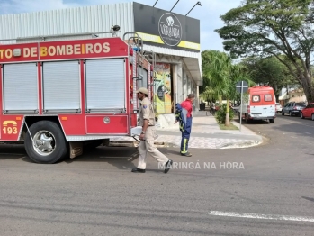
<svg viewBox="0 0 314 236"><path fill-rule="evenodd" d="M126 66L124 59L85 61L87 113L125 113Z"/></svg>

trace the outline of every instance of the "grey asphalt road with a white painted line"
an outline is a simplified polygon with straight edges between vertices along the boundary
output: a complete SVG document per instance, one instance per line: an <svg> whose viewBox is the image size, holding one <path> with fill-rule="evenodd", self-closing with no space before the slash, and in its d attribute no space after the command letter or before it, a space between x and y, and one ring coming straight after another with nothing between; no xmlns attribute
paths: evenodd
<svg viewBox="0 0 314 236"><path fill-rule="evenodd" d="M168 174L134 148L98 148L54 165L0 146L0 235L313 235L314 122L281 115L244 124L265 144L160 148Z"/></svg>

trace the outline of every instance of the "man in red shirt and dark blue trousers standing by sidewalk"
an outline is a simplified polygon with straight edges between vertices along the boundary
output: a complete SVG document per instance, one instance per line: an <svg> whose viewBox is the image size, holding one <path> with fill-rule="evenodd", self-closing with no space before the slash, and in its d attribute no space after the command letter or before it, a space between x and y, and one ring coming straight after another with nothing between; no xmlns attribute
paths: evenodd
<svg viewBox="0 0 314 236"><path fill-rule="evenodd" d="M186 123L185 123L185 129L184 131L181 131L182 133L182 140L181 140L181 156L191 157L191 153L188 152L189 147L189 139L191 134L191 128L192 128L192 116L193 116L193 101L194 101L194 95L190 94L187 96L186 100L181 103L181 107L187 111L186 113ZM176 122L175 122L176 123Z"/></svg>

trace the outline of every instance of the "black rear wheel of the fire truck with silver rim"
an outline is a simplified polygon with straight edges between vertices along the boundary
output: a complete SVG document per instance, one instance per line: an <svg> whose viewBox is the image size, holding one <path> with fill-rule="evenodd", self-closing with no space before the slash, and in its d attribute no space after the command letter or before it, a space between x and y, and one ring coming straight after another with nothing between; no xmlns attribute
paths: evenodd
<svg viewBox="0 0 314 236"><path fill-rule="evenodd" d="M25 139L25 150L34 162L52 164L67 154L67 141L57 123L40 121L30 127Z"/></svg>

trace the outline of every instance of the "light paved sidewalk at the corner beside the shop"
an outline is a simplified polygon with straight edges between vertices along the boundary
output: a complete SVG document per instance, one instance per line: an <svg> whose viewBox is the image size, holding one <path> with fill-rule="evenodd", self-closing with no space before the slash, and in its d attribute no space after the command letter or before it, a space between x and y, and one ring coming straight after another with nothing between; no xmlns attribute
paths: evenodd
<svg viewBox="0 0 314 236"><path fill-rule="evenodd" d="M175 122L175 120L174 120ZM239 123L232 122L238 126ZM166 129L157 128L155 143L165 146L180 147L181 132L179 124L173 124ZM111 141L135 141L131 137L111 137ZM242 125L239 130L220 130L214 116L207 116L206 112L193 112L192 133L189 148L227 149L244 148L261 144L262 137Z"/></svg>

